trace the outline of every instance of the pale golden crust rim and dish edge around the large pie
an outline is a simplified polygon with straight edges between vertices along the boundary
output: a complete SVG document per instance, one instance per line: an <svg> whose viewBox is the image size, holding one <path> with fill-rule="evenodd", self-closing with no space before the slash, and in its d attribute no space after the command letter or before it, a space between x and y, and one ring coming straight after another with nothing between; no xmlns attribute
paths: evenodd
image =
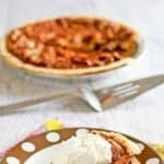
<svg viewBox="0 0 164 164"><path fill-rule="evenodd" d="M37 21L39 22L39 21ZM40 21L42 22L42 21ZM130 27L126 23L120 23L128 27ZM131 27L133 28L133 27ZM0 55L2 59L7 61L10 66L22 70L24 72L30 72L35 75L40 77L48 77L48 78L77 78L77 77L89 77L89 75L97 75L105 72L109 72L116 69L119 69L121 67L125 67L129 63L131 63L133 60L136 60L141 52L143 51L144 42L143 38L137 33L136 30L133 30L133 33L136 35L136 42L137 42L137 48L136 51L130 56L122 58L119 61L112 62L109 65L99 66L99 67L91 67L91 68L82 68L82 69L51 69L51 68L42 68L37 66L33 66L31 63L25 63L19 58L14 57L12 54L10 54L7 49L7 36L8 34L1 39L0 42Z"/></svg>

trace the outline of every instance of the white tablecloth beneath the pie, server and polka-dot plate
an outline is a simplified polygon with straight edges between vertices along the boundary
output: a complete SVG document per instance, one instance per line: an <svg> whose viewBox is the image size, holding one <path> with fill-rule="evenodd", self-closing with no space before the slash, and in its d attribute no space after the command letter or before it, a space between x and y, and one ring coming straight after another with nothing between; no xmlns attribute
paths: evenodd
<svg viewBox="0 0 164 164"><path fill-rule="evenodd" d="M39 8L36 8L38 4ZM136 26L145 39L144 52L136 62L99 81L89 80L87 84L93 87L164 72L163 0L0 0L0 35L26 21L62 13L87 13L121 20ZM37 80L20 74L0 62L0 105L74 85L73 81ZM164 87L160 86L101 114L92 112L81 101L70 99L33 106L34 110L0 116L0 151L23 139L48 118L58 118L68 126L114 129L144 141L164 142L163 102Z"/></svg>

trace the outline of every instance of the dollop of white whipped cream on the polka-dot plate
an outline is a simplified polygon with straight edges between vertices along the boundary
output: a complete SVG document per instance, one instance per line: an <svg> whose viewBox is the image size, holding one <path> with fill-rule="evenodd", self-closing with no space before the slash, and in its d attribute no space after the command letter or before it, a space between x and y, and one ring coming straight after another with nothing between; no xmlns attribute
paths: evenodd
<svg viewBox="0 0 164 164"><path fill-rule="evenodd" d="M112 145L102 137L87 133L56 145L52 164L109 164Z"/></svg>

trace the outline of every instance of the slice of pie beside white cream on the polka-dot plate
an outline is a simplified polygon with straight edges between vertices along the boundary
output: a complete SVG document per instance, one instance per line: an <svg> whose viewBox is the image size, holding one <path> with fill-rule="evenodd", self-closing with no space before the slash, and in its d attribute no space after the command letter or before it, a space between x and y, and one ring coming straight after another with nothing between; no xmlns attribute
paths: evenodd
<svg viewBox="0 0 164 164"><path fill-rule="evenodd" d="M136 155L140 154L141 151L131 140L116 132L97 130L91 132L103 137L112 144L112 164L140 164Z"/></svg>

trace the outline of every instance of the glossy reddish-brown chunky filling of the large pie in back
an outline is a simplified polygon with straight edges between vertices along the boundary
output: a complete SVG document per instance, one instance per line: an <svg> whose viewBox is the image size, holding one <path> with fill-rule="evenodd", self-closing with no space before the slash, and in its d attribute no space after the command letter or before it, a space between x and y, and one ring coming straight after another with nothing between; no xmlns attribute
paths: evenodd
<svg viewBox="0 0 164 164"><path fill-rule="evenodd" d="M10 32L8 51L25 63L54 69L105 66L130 57L134 32L101 19L59 17Z"/></svg>

